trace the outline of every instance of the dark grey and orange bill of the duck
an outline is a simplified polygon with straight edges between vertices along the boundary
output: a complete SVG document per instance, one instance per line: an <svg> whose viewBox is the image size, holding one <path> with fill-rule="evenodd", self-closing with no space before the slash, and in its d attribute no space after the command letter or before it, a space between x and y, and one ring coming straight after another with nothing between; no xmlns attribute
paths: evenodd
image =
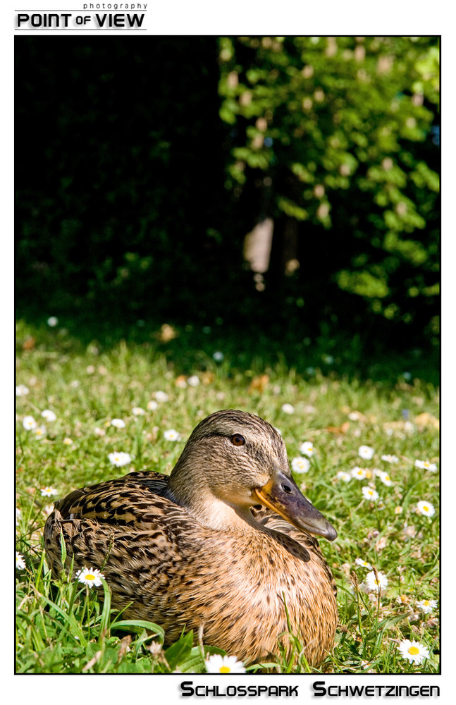
<svg viewBox="0 0 456 705"><path fill-rule="evenodd" d="M297 529L304 529L328 541L334 541L337 537L335 528L304 497L295 480L281 468L276 467L269 482L254 489L252 494L259 503L280 514Z"/></svg>

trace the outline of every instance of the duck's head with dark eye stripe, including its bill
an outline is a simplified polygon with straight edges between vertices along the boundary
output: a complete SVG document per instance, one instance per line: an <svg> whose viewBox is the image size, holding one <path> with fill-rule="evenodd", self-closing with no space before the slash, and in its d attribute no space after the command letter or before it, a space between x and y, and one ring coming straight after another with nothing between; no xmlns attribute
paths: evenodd
<svg viewBox="0 0 456 705"><path fill-rule="evenodd" d="M246 412L211 414L192 432L168 484L170 496L216 529L252 522L264 505L297 529L333 541L335 529L292 478L285 443L271 424Z"/></svg>

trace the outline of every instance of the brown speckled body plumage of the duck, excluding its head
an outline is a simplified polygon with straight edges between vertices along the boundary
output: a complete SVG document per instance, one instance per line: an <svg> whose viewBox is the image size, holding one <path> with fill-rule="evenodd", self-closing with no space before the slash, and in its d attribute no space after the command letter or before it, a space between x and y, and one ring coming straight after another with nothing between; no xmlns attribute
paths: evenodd
<svg viewBox="0 0 456 705"><path fill-rule="evenodd" d="M318 665L337 623L333 577L318 541L264 507L252 508L251 521L214 530L175 502L169 481L133 472L56 502L44 531L54 576L62 568L62 533L66 568L72 558L75 568L99 568L125 618L160 624L166 643L183 628L201 628L204 643L246 663L278 654L281 639L286 645L285 601L291 631Z"/></svg>

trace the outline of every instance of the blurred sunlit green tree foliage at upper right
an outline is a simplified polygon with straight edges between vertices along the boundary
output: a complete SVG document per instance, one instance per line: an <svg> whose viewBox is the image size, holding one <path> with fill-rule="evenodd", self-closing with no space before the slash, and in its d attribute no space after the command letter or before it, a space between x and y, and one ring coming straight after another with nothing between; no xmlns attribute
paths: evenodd
<svg viewBox="0 0 456 705"><path fill-rule="evenodd" d="M221 39L228 188L257 179L264 214L298 221L304 299L321 270L366 314L436 314L438 56L436 37Z"/></svg>

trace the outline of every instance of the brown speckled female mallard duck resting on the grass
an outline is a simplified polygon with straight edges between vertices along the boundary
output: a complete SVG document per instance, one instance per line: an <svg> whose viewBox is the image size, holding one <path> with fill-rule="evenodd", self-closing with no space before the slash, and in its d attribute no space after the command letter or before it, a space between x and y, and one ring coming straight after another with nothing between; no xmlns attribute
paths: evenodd
<svg viewBox="0 0 456 705"><path fill-rule="evenodd" d="M225 410L198 424L169 477L132 472L75 490L44 537L54 575L62 535L67 568L74 558L101 569L113 606L164 627L167 643L192 629L253 663L277 656L291 631L318 666L338 613L310 533L337 535L292 479L280 434Z"/></svg>

